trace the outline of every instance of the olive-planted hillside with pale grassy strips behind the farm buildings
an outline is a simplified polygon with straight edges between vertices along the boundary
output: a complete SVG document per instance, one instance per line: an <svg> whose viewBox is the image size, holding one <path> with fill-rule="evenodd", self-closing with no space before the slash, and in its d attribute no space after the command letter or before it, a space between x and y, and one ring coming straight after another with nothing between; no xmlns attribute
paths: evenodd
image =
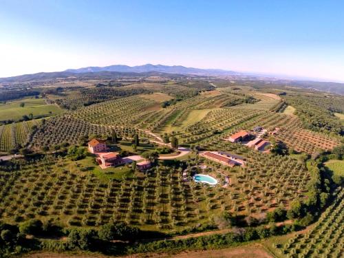
<svg viewBox="0 0 344 258"><path fill-rule="evenodd" d="M252 103L243 103L248 99ZM302 129L297 116L279 112L283 105L274 94L233 92L226 88L186 98L166 108L160 107L160 103L147 94L129 96L55 116L35 133L33 146L78 144L80 138L91 135L109 136L112 128L119 133L120 128L141 133L153 131L161 136L173 133L186 147L206 146L207 142L257 125L268 131L279 127L279 133L273 137L295 151L314 153L331 150L340 144L339 137Z"/></svg>

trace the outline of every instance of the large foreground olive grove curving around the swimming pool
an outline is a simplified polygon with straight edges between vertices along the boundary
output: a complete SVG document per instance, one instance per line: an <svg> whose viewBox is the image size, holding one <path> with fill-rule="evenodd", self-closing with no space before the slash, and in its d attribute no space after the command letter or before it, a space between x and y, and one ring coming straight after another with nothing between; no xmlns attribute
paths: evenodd
<svg viewBox="0 0 344 258"><path fill-rule="evenodd" d="M50 158L22 165L15 173L1 172L0 213L4 219L19 220L58 216L70 226L116 221L164 230L207 223L209 214L222 211L259 217L302 197L309 180L303 164L288 157L277 162L269 155L252 154L248 150L248 166L239 170L200 160L208 166L207 173L218 178L216 187L185 181L182 168L164 164L144 177L119 182L98 179L82 163ZM221 186L224 173L232 180L227 188Z"/></svg>

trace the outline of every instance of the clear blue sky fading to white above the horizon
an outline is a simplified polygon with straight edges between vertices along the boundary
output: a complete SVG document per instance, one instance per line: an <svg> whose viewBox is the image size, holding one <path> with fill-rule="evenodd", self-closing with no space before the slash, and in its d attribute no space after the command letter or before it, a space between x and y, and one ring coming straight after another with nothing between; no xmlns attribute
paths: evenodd
<svg viewBox="0 0 344 258"><path fill-rule="evenodd" d="M0 77L184 65L344 82L344 1L0 0Z"/></svg>

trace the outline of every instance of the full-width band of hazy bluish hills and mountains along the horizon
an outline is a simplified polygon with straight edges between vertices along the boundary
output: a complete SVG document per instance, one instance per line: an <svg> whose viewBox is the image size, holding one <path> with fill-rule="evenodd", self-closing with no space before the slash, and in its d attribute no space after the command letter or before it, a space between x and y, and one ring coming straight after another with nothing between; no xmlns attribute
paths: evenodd
<svg viewBox="0 0 344 258"><path fill-rule="evenodd" d="M40 72L37 74L24 74L0 78L0 83L25 83L34 81L47 81L56 78L80 78L80 79L116 79L123 77L148 77L160 76L169 78L180 78L186 76L235 76L237 79L267 80L271 79L277 85L296 86L301 88L316 89L325 92L334 92L344 95L343 83L321 82L312 80L278 79L278 76L263 76L258 74L244 74L223 69L200 69L184 67L182 65L110 65L105 67L83 67L79 69L67 69L63 72Z"/></svg>

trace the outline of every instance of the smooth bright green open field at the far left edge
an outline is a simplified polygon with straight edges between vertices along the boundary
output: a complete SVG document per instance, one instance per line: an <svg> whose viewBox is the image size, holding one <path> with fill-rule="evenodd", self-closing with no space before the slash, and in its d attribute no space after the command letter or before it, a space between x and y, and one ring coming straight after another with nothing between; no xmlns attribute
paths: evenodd
<svg viewBox="0 0 344 258"><path fill-rule="evenodd" d="M21 107L24 103L24 107ZM59 114L63 109L57 105L47 105L43 98L24 98L21 100L14 100L6 104L0 104L0 121L3 120L18 120L24 115L32 114L34 118L40 116L50 116Z"/></svg>

